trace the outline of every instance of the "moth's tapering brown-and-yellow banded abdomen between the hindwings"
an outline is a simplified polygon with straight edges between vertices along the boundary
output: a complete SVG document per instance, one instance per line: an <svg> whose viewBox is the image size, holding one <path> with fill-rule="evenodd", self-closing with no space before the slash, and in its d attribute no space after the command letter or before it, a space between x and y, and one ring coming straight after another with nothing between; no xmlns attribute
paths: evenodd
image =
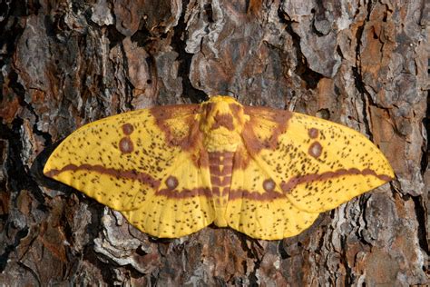
<svg viewBox="0 0 430 287"><path fill-rule="evenodd" d="M216 214L215 224L220 227L228 225L225 214L230 194L233 155L234 153L230 152L209 153L212 201Z"/></svg>

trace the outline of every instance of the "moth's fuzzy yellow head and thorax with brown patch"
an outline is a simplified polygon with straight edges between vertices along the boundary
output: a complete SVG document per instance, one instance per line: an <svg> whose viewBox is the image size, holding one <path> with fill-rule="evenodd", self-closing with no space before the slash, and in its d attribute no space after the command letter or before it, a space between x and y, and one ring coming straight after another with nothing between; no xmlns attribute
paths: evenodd
<svg viewBox="0 0 430 287"><path fill-rule="evenodd" d="M208 152L235 152L241 143L240 134L249 116L243 106L230 96L213 96L202 104L200 131Z"/></svg>

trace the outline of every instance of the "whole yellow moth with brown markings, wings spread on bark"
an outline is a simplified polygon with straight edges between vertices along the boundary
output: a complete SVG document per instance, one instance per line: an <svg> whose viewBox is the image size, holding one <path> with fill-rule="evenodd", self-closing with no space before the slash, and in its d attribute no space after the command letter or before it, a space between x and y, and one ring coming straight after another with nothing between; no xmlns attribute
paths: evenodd
<svg viewBox="0 0 430 287"><path fill-rule="evenodd" d="M229 96L84 125L44 174L152 236L215 223L266 240L297 235L318 213L394 178L386 157L350 128Z"/></svg>

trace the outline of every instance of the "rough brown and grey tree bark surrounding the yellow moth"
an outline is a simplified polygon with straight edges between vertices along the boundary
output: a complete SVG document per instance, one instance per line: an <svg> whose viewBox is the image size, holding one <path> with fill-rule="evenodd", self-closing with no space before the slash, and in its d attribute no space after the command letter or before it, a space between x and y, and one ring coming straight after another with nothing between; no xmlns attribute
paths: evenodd
<svg viewBox="0 0 430 287"><path fill-rule="evenodd" d="M425 0L0 1L1 284L428 284L429 15ZM159 240L42 175L83 124L212 94L346 124L396 180L284 240L213 225Z"/></svg>

